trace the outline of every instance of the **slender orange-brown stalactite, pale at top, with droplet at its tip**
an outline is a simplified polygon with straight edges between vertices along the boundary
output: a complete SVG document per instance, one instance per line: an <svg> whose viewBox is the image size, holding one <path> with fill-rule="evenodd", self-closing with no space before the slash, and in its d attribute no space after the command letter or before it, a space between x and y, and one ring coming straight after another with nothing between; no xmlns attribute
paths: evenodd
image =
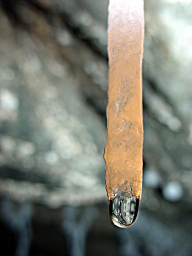
<svg viewBox="0 0 192 256"><path fill-rule="evenodd" d="M114 205L124 203L123 218L123 211L138 210L142 191L143 0L110 0L108 26L106 189L113 211ZM115 223L118 217L114 221L111 215L121 227L130 226L136 217Z"/></svg>

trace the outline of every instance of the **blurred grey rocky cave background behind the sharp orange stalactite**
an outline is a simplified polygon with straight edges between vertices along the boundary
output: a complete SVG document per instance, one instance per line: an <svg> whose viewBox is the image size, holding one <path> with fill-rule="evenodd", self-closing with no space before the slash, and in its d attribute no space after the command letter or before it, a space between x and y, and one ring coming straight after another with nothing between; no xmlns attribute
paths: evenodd
<svg viewBox="0 0 192 256"><path fill-rule="evenodd" d="M192 255L192 1L145 0L144 181L128 229L104 184L108 0L0 0L3 256Z"/></svg>

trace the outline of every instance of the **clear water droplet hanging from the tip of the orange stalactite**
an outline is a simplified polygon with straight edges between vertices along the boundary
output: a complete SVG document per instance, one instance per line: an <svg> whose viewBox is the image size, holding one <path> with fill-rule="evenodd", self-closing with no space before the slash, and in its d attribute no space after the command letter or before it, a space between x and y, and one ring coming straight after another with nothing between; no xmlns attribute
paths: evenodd
<svg viewBox="0 0 192 256"><path fill-rule="evenodd" d="M139 199L137 197L125 198L116 195L109 201L110 218L119 228L128 228L137 219Z"/></svg>

